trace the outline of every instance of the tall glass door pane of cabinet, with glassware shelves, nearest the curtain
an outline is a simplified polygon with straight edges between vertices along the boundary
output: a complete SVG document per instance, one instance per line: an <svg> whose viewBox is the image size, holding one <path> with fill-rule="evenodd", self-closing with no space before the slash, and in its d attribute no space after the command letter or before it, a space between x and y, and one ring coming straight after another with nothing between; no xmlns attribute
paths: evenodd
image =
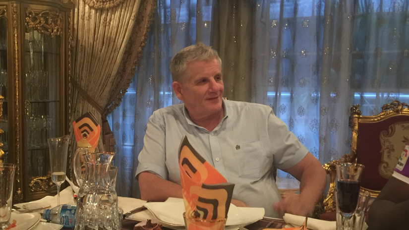
<svg viewBox="0 0 409 230"><path fill-rule="evenodd" d="M26 175L35 179L50 170L47 139L61 133L60 37L30 28L25 33ZM31 188L33 191L42 188Z"/></svg>

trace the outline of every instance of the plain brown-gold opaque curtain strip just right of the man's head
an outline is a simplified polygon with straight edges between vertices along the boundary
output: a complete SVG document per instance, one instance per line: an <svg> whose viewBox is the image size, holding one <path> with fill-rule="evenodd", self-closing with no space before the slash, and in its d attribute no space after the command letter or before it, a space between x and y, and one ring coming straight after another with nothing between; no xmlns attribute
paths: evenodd
<svg viewBox="0 0 409 230"><path fill-rule="evenodd" d="M251 102L255 4L248 0L218 0L214 8L211 45L223 61L224 96Z"/></svg>

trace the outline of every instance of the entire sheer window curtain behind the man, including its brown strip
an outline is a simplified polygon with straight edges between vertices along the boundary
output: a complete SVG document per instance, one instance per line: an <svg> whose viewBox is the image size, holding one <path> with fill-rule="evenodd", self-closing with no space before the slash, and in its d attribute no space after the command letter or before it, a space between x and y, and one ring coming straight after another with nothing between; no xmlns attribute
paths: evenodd
<svg viewBox="0 0 409 230"><path fill-rule="evenodd" d="M127 157L120 167L129 169L118 175L127 178L119 194L138 197L133 176L147 119L180 103L169 60L199 41L222 58L224 96L271 106L321 163L348 153L351 105L370 115L408 101L408 2L159 0L137 72L109 118L116 151Z"/></svg>

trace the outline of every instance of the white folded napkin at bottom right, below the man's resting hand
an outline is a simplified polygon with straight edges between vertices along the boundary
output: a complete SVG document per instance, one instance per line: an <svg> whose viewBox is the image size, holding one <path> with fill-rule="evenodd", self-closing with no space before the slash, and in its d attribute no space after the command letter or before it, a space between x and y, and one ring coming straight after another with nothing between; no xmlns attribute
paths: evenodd
<svg viewBox="0 0 409 230"><path fill-rule="evenodd" d="M284 221L287 224L291 224L293 226L301 226L302 223L305 221L305 217L296 216L292 214L284 214L283 217ZM336 230L337 229L337 222L335 221L322 221L313 218L308 218L307 221L307 229L311 230Z"/></svg>

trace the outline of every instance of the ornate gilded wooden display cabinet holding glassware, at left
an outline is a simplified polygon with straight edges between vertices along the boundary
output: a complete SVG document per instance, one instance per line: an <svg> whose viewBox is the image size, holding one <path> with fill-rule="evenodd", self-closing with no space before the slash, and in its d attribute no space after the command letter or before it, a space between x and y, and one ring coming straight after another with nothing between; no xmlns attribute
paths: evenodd
<svg viewBox="0 0 409 230"><path fill-rule="evenodd" d="M14 202L57 191L47 139L68 133L72 8L68 0L0 0L0 160L17 165Z"/></svg>

